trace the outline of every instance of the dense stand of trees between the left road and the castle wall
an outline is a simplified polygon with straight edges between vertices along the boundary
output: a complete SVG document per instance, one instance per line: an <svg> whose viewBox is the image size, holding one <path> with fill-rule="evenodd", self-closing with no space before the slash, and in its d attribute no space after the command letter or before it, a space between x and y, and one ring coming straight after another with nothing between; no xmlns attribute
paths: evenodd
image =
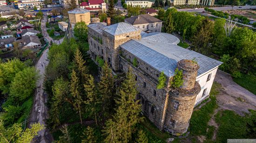
<svg viewBox="0 0 256 143"><path fill-rule="evenodd" d="M127 143L134 137L135 124L142 120L139 115L141 105L136 100L135 75L130 68L121 86L116 87L112 70L105 62L100 79L94 78L90 71L90 62L93 61L83 56L86 55L81 52L83 48L76 40L70 39L52 45L48 52L49 64L44 82L49 95L47 127L52 131L61 129L60 142ZM88 120L93 125L88 126ZM79 140L71 137L72 132L65 124L88 127L83 129ZM95 134L96 130L102 135ZM144 132L140 132L136 138L147 140Z"/></svg>

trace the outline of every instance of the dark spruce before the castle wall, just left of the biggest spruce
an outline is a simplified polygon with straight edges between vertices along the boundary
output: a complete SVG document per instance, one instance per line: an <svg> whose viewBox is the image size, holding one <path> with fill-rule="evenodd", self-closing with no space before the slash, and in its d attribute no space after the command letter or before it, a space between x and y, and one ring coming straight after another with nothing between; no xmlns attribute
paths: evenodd
<svg viewBox="0 0 256 143"><path fill-rule="evenodd" d="M115 105L115 82L112 76L111 69L108 67L108 63L102 67L101 81L99 82L99 93L102 99L102 109L106 117L110 117Z"/></svg>

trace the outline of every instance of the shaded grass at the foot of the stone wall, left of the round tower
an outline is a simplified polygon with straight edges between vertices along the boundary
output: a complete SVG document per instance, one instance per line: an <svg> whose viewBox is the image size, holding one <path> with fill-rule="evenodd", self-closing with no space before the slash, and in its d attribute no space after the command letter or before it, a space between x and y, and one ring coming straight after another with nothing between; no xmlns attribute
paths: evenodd
<svg viewBox="0 0 256 143"><path fill-rule="evenodd" d="M137 129L142 129L145 132L149 143L165 143L166 139L172 137L169 133L156 128L148 118L138 124Z"/></svg>

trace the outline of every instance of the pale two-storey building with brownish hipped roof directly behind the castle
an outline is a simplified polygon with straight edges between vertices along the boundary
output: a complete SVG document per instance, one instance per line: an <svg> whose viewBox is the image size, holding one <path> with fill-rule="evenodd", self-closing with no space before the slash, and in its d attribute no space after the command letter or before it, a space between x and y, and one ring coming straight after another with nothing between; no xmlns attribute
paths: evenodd
<svg viewBox="0 0 256 143"><path fill-rule="evenodd" d="M162 30L162 20L159 20L148 14L141 14L138 16L130 17L124 19L124 22L134 25L146 33L161 32Z"/></svg>

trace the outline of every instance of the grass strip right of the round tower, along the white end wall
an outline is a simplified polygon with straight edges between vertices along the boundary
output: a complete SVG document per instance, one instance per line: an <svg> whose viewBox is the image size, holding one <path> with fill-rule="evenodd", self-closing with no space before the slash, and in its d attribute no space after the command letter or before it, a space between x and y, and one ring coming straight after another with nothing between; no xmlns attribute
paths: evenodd
<svg viewBox="0 0 256 143"><path fill-rule="evenodd" d="M205 106L202 106L200 110L193 112L189 126L191 135L204 135L209 138L212 137L214 129L208 125L208 122L214 113L214 110L218 107L216 103L216 95L219 93L218 88L220 87L221 85L219 83L214 82L210 92L211 101L208 102ZM207 128L209 128L208 131Z"/></svg>

